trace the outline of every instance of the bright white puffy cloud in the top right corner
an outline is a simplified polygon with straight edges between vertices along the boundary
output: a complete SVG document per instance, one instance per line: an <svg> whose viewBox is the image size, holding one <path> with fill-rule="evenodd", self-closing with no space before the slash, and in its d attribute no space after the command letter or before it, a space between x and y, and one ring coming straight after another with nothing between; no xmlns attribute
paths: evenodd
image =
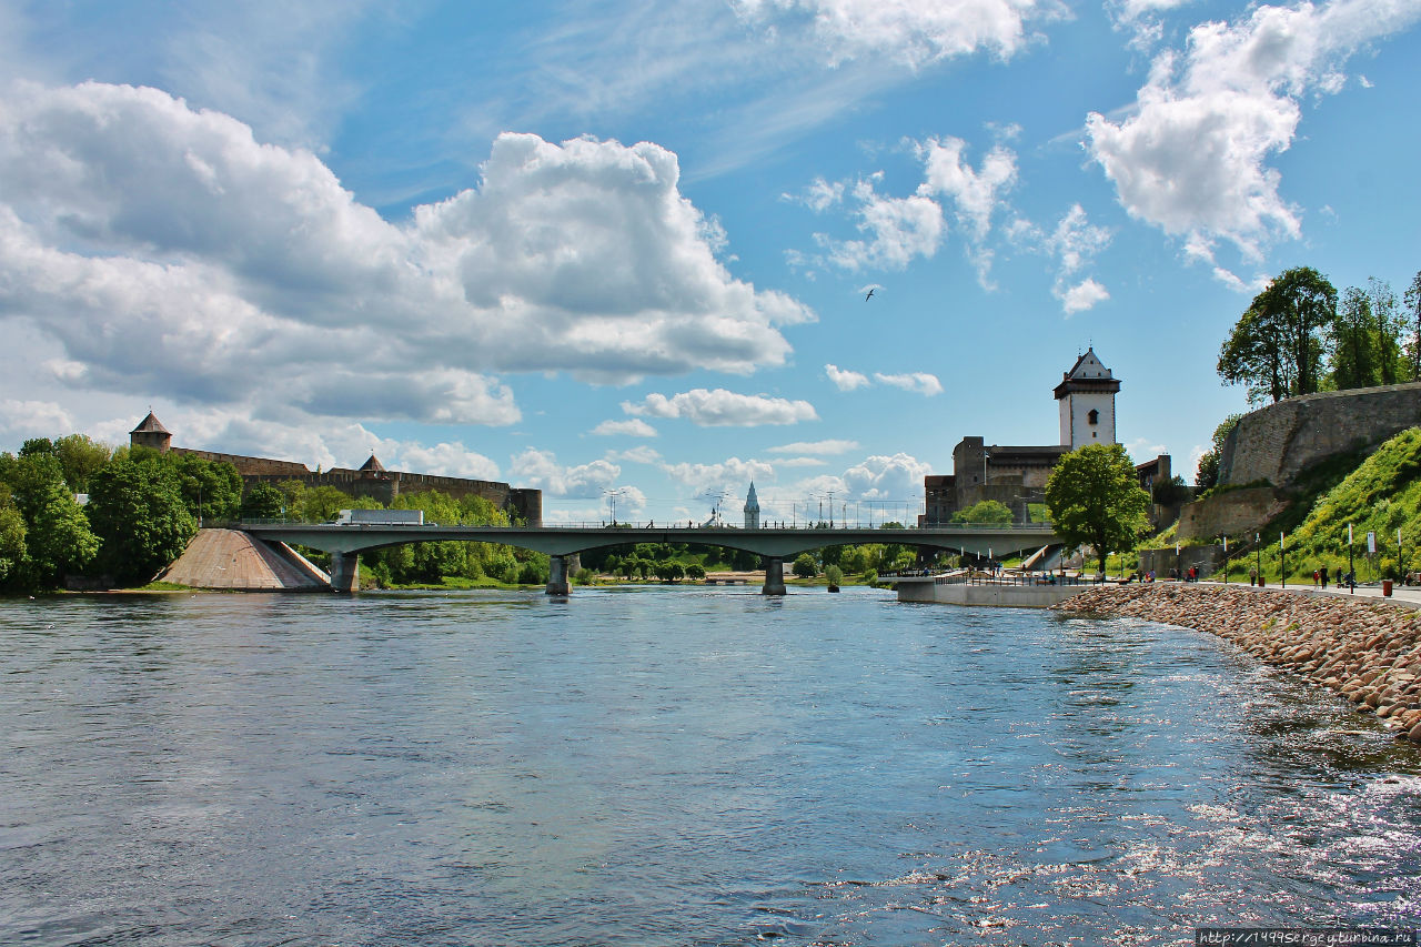
<svg viewBox="0 0 1421 947"><path fill-rule="evenodd" d="M1223 240L1256 259L1300 235L1269 164L1292 146L1300 97L1337 91L1353 53L1417 18L1417 0L1333 0L1199 24L1182 54L1154 61L1133 114L1087 118L1087 149L1125 210L1185 239L1191 256L1212 260Z"/></svg>

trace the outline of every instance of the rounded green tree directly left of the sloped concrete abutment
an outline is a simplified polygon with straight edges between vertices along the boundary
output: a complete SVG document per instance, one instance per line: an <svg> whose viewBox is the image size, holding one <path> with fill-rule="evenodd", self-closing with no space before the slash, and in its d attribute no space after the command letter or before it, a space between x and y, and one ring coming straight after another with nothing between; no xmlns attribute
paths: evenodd
<svg viewBox="0 0 1421 947"><path fill-rule="evenodd" d="M156 456L124 458L95 471L84 512L102 540L98 562L119 583L146 580L198 532L180 476Z"/></svg>

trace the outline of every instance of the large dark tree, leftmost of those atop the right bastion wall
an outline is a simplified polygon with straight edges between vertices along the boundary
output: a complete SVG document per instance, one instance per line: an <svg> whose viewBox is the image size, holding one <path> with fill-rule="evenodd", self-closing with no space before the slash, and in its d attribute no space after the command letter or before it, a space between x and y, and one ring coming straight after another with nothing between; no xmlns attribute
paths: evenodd
<svg viewBox="0 0 1421 947"><path fill-rule="evenodd" d="M1310 266L1285 270L1253 297L1219 348L1225 384L1248 387L1250 402L1319 390L1322 330L1334 321L1337 290Z"/></svg>

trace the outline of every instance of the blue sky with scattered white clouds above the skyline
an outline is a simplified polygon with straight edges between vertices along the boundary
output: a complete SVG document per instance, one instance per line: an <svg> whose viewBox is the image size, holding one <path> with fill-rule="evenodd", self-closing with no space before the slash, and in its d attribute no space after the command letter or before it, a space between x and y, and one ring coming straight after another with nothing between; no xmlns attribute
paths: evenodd
<svg viewBox="0 0 1421 947"><path fill-rule="evenodd" d="M1421 0L0 0L0 449L915 515L1087 347L1194 464L1270 276L1421 270ZM872 290L872 296L868 291ZM830 501L830 496L833 499Z"/></svg>

